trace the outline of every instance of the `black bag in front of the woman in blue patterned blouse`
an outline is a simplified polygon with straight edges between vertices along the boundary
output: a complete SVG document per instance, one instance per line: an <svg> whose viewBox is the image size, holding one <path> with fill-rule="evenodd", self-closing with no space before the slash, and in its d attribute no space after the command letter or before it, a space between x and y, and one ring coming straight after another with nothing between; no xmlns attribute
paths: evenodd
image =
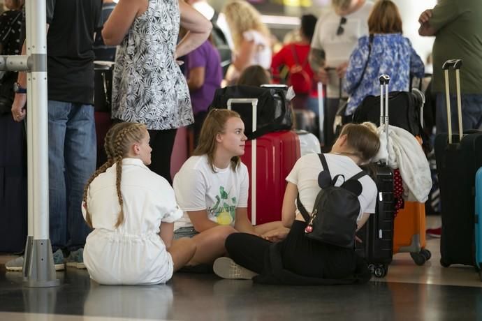
<svg viewBox="0 0 482 321"><path fill-rule="evenodd" d="M388 94L389 124L422 135L421 107L425 98L420 91L392 91ZM371 121L380 126L380 96L366 96L353 113L353 123Z"/></svg>

